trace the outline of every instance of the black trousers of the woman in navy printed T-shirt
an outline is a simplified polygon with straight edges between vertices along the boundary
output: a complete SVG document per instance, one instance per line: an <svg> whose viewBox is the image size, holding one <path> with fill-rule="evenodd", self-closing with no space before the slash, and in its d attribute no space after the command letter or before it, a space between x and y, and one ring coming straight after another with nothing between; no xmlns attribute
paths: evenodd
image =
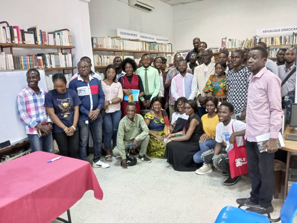
<svg viewBox="0 0 297 223"><path fill-rule="evenodd" d="M67 136L64 132L53 133L59 147L61 156L78 159L79 134L76 130L73 136Z"/></svg>

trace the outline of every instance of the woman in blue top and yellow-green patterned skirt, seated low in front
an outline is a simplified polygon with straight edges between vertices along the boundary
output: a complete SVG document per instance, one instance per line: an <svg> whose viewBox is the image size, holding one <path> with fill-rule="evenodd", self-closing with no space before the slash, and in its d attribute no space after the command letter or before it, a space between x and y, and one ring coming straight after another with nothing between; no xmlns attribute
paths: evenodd
<svg viewBox="0 0 297 223"><path fill-rule="evenodd" d="M161 109L162 99L154 97L151 100L153 110L144 115L144 121L149 127L149 145L147 147L147 154L154 158L164 158L165 147L164 138L166 138L164 129L169 131L169 120L165 110Z"/></svg>

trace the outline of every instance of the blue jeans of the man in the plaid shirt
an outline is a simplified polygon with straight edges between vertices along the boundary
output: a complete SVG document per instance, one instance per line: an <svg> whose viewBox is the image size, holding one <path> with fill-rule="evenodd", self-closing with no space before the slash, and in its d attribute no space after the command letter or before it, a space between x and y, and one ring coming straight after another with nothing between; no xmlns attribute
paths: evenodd
<svg viewBox="0 0 297 223"><path fill-rule="evenodd" d="M43 151L51 153L53 150L52 133L39 137L37 134L27 134L30 139L31 152Z"/></svg>

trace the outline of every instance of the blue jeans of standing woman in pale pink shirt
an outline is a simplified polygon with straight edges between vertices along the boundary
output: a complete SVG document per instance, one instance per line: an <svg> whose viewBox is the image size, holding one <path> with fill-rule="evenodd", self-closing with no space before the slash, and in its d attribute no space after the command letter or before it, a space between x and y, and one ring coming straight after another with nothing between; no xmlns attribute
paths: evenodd
<svg viewBox="0 0 297 223"><path fill-rule="evenodd" d="M116 135L118 133L121 117L121 109L119 111L105 113L105 116L103 117L103 143L105 150L110 150L111 139L113 142L113 148L116 147Z"/></svg>

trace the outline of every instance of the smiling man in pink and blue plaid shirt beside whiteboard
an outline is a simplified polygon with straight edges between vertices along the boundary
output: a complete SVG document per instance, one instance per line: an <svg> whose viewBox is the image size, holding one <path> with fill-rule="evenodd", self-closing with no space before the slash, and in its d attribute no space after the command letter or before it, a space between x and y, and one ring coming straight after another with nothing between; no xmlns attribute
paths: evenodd
<svg viewBox="0 0 297 223"><path fill-rule="evenodd" d="M31 151L52 152L53 123L45 112L44 97L47 93L44 89L38 87L40 81L40 73L36 69L30 69L26 73L27 87L24 88L17 96L18 115L20 120L25 124L26 134L30 139ZM46 125L41 125L41 123ZM36 128L42 132L42 136L38 136Z"/></svg>

